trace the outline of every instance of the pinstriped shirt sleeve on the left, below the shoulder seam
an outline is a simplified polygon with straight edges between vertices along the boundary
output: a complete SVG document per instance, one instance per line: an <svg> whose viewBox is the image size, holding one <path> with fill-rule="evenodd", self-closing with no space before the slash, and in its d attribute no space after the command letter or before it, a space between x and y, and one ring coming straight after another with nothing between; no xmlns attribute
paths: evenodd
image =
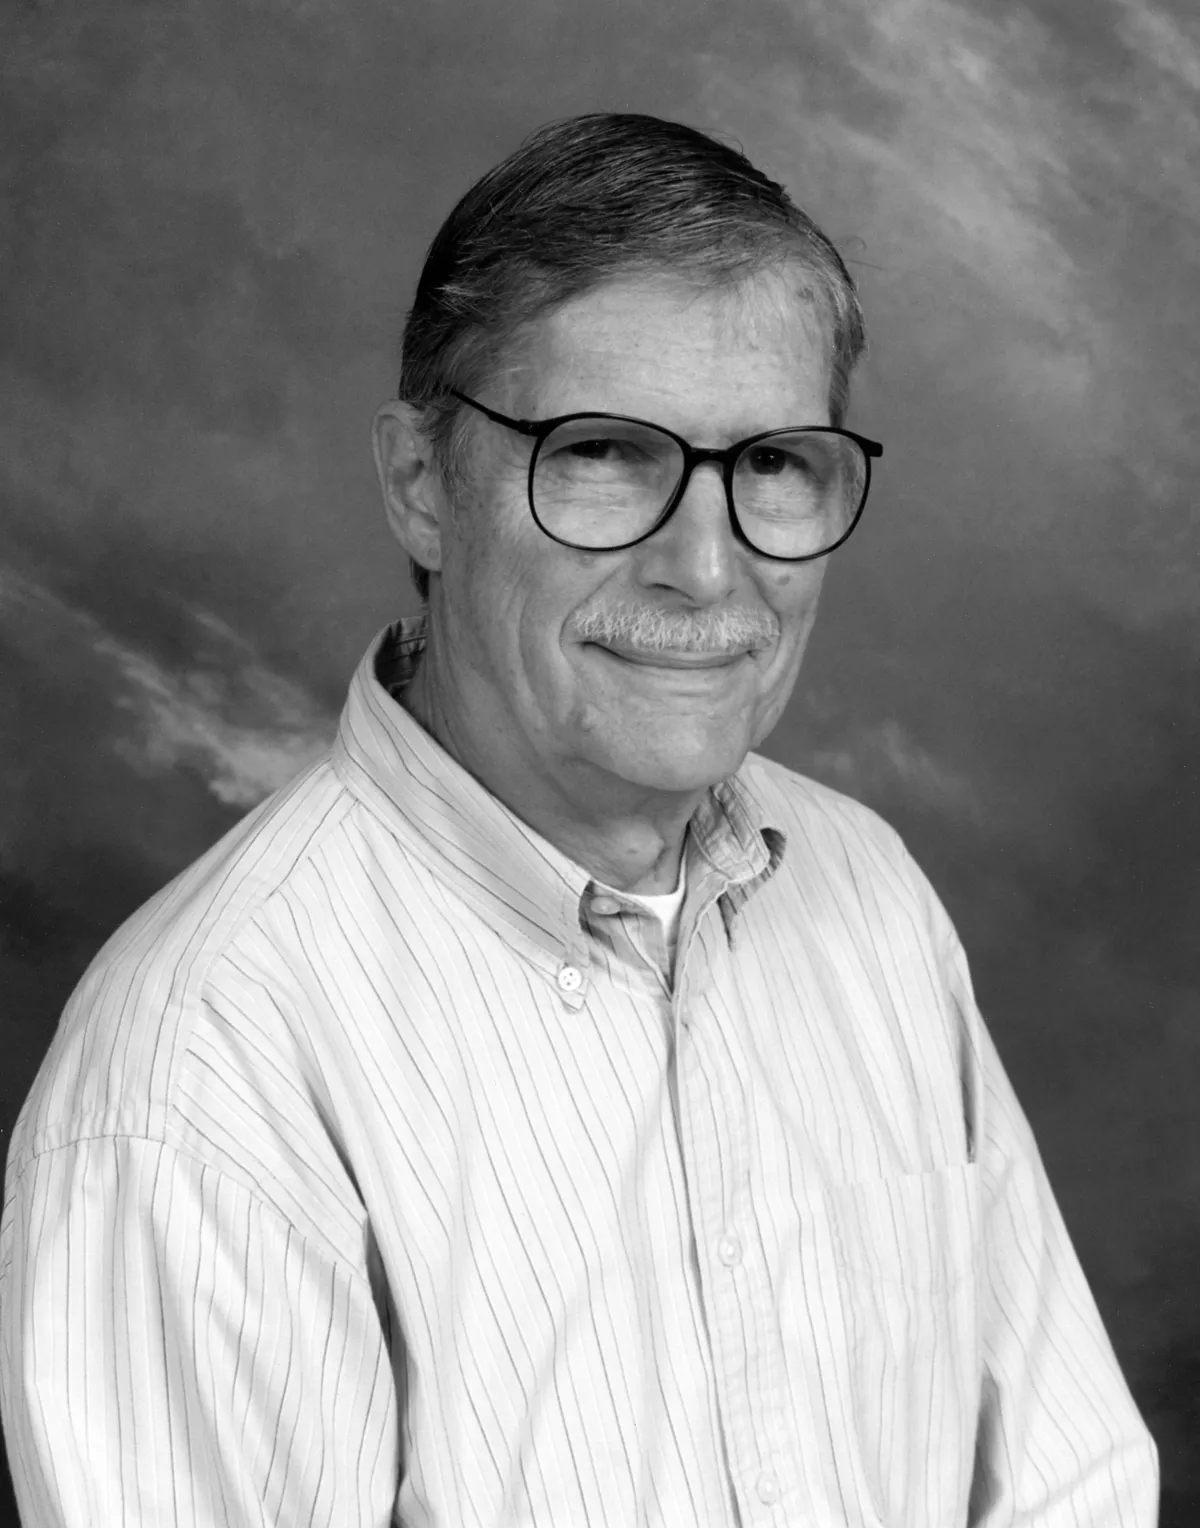
<svg viewBox="0 0 1200 1528"><path fill-rule="evenodd" d="M371 1282L248 1186L93 1137L9 1184L0 1407L23 1528L391 1522Z"/></svg>

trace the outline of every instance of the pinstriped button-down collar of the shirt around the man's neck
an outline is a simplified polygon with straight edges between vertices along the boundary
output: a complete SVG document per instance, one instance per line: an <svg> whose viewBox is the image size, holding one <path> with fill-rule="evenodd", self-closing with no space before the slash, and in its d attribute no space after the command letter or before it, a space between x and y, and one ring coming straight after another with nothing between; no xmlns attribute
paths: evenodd
<svg viewBox="0 0 1200 1528"><path fill-rule="evenodd" d="M339 778L540 964L585 960L584 906L598 885L590 872L509 811L399 703L423 646L425 617L411 616L384 628L368 648L333 746ZM775 871L783 850L783 833L763 822L744 779L722 781L689 822L688 902L705 883L705 900L737 888L740 905Z"/></svg>

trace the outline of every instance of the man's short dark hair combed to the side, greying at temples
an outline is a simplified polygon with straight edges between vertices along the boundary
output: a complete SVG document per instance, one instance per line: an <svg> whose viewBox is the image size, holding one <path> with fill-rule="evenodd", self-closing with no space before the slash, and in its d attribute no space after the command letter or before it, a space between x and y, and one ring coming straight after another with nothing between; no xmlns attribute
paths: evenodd
<svg viewBox="0 0 1200 1528"><path fill-rule="evenodd" d="M845 417L864 327L841 255L735 148L680 122L590 113L550 122L489 170L437 232L404 330L399 396L425 411L448 483L462 405L529 321L601 281L679 270L712 283L795 266L825 309L830 417ZM411 564L428 599L430 575Z"/></svg>

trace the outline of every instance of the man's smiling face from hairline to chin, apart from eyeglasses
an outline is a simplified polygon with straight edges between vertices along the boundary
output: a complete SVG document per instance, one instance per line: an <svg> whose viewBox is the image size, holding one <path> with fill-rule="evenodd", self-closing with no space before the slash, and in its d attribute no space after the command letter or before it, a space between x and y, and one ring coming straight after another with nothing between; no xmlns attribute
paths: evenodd
<svg viewBox="0 0 1200 1528"><path fill-rule="evenodd" d="M670 275L611 281L537 321L480 402L517 419L596 411L697 446L827 425L829 339L796 278L706 290ZM468 419L466 490L442 535L439 671L485 756L558 787L697 792L741 764L795 685L824 561L772 562L734 536L720 468L702 465L668 523L622 552L578 552L529 512L532 442ZM611 610L708 631L749 617L755 651L616 651L582 640ZM475 718L472 721L472 718Z"/></svg>

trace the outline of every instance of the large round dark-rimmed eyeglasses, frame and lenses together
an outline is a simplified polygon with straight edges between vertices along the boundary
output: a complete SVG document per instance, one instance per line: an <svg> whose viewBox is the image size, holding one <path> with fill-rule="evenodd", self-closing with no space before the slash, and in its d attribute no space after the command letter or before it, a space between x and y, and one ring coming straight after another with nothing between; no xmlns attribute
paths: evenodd
<svg viewBox="0 0 1200 1528"><path fill-rule="evenodd" d="M777 562L809 562L848 538L867 503L871 458L884 454L865 435L810 425L767 429L720 451L624 414L509 419L449 391L534 442L530 513L552 541L579 552L622 552L653 536L696 468L715 461L738 541Z"/></svg>

